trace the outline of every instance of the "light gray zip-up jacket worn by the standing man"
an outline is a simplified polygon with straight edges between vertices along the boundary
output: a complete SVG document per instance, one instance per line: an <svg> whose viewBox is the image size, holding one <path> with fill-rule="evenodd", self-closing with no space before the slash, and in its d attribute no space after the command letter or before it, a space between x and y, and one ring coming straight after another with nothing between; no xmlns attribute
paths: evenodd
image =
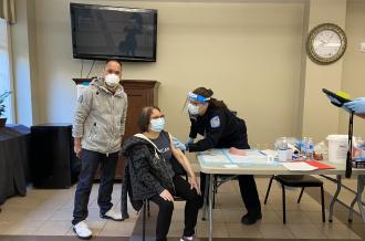
<svg viewBox="0 0 365 241"><path fill-rule="evenodd" d="M114 95L98 77L77 99L73 137L82 138L82 148L102 154L121 149L127 114L127 95L118 85Z"/></svg>

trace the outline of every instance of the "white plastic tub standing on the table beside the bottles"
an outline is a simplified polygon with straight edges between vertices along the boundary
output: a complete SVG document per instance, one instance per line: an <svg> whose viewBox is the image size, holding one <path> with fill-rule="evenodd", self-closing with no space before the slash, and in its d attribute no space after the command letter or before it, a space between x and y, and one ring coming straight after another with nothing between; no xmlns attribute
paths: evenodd
<svg viewBox="0 0 365 241"><path fill-rule="evenodd" d="M348 150L347 135L328 135L328 161L345 164Z"/></svg>

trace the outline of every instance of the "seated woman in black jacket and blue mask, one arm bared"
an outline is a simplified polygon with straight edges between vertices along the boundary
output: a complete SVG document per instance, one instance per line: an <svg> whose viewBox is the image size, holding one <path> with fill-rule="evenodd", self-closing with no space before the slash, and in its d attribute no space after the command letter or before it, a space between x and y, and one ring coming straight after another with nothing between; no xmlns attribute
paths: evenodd
<svg viewBox="0 0 365 241"><path fill-rule="evenodd" d="M159 207L156 240L167 240L174 210L174 196L186 200L182 241L194 240L198 211L202 205L199 185L189 160L171 143L171 135L164 130L165 119L155 106L143 108L136 134L125 140L122 153L128 166L134 200L149 199ZM171 157L189 175L189 181L176 175Z"/></svg>

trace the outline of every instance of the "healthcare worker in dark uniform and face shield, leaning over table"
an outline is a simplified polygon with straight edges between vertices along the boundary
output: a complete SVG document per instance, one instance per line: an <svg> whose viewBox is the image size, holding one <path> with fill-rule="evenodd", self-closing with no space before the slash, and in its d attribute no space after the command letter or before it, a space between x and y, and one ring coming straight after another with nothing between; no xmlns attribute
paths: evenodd
<svg viewBox="0 0 365 241"><path fill-rule="evenodd" d="M249 149L244 120L237 117L222 101L213 98L212 95L213 92L205 87L198 87L188 94L187 108L191 126L186 149L190 153L210 148ZM194 142L197 134L204 138ZM200 188L204 190L206 175L200 174ZM254 178L252 175L239 175L238 181L242 200L248 210L241 222L253 224L262 218Z"/></svg>

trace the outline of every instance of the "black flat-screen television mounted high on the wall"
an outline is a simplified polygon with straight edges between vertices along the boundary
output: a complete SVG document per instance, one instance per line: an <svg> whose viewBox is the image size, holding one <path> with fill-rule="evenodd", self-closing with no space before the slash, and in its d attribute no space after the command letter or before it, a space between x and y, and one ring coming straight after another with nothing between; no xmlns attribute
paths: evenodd
<svg viewBox="0 0 365 241"><path fill-rule="evenodd" d="M156 61L157 10L70 3L73 57Z"/></svg>

